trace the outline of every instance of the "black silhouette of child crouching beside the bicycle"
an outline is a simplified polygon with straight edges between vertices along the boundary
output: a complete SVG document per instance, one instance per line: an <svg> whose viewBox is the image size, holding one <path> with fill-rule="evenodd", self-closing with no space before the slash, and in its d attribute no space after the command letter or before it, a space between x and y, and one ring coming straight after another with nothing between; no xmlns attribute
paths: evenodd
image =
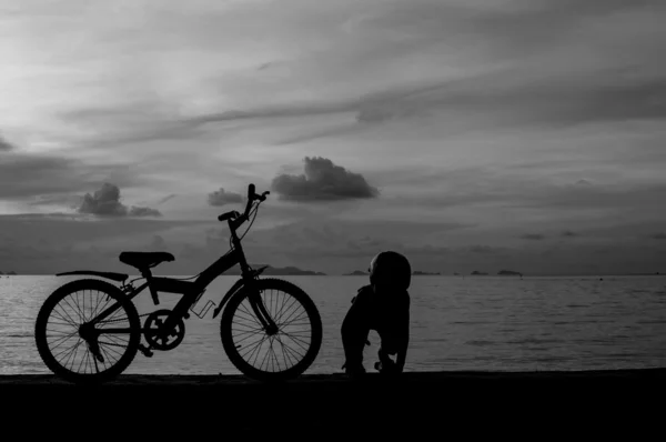
<svg viewBox="0 0 666 442"><path fill-rule="evenodd" d="M370 284L359 289L352 307L342 321L342 345L347 374L365 373L363 349L367 335L375 330L381 338L380 362L382 373L401 373L405 365L410 342L410 261L394 251L379 253L370 263ZM390 355L396 355L393 361Z"/></svg>

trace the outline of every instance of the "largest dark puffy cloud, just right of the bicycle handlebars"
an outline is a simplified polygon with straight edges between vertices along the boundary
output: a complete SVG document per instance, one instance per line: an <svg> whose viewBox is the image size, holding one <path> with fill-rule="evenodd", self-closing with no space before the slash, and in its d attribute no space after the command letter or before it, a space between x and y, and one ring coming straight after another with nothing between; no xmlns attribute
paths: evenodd
<svg viewBox="0 0 666 442"><path fill-rule="evenodd" d="M272 190L283 200L327 201L377 198L380 192L363 175L334 164L325 158L305 157L305 171L300 175L280 174Z"/></svg>

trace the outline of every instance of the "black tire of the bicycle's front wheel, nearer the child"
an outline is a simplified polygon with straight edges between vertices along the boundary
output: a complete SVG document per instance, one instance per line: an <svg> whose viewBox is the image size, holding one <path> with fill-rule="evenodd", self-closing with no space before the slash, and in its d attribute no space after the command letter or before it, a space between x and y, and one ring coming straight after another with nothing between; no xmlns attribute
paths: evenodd
<svg viewBox="0 0 666 442"><path fill-rule="evenodd" d="M300 307L303 308L304 312L307 315L307 319L310 320L310 333L311 333L310 345L307 346L303 356L295 364L293 364L290 368L285 366L284 370L282 370L279 361L278 361L278 368L280 369L279 371L262 370L263 363L258 369L258 368L253 366L249 361L246 361L244 355L241 354L241 351L239 350L239 345L236 345L236 343L234 343L234 335L233 335L234 314L239 311L239 309L241 308L241 304L245 300L248 300L248 297L251 294L250 289L244 289L236 295L232 297L232 299L226 304L226 308L224 309L224 312L222 314L222 320L220 321L220 334L222 338L222 345L224 348L224 351L226 352L226 355L229 356L230 361L234 364L234 366L249 378L252 378L252 379L255 379L259 381L263 381L263 382L280 382L280 381L286 381L290 379L294 379L294 378L301 375L303 372L305 372L305 370L307 370L310 368L310 365L316 359L319 351L321 349L322 320L321 320L319 310L316 309L316 305L314 304L312 299L301 288L299 288L297 285L295 285L289 281L269 278L269 279L258 280L254 283L256 284L255 287L260 292L265 293L265 291L268 291L268 290L276 290L279 292L282 292L282 293L285 293L285 294L292 297L294 300L294 301L290 301L292 304L297 302L300 304ZM269 311L269 313L272 317L278 315L278 313L282 314L276 320L274 319L276 324L280 327L281 332L285 325L290 325L289 322L283 322L282 327L281 327L281 323L280 323L280 320L284 319L283 317L287 314L286 312L283 311L284 304L285 304L285 301L283 301L282 309L280 311L278 311L276 302L274 305L275 309L271 309L271 305L266 305L266 302L264 299L264 305L266 307L266 310ZM275 312L273 312L272 310L275 310ZM252 313L251 313L251 311L245 309L243 314L248 315L248 314L252 314ZM296 320L293 320L294 313L291 313L291 314L292 314L292 317L285 319L285 321L291 320L291 323L293 324L294 321L296 321ZM255 320L255 321L258 321L258 320ZM241 334L243 332L241 332ZM286 340L287 336L290 336L290 333L284 333L284 334L285 334L284 339ZM268 338L264 338L264 340L262 340L259 345L263 345L263 342L265 342L266 339ZM291 335L290 339L293 340L293 335ZM273 349L273 343L275 341L279 341L278 344L280 344L283 349L285 348L284 342L279 336L279 338L275 338L273 341L271 341L271 350ZM293 356L294 352L290 353L287 351L285 354L287 354L287 356L290 354ZM275 359L276 359L276 356L275 356ZM287 359L291 360L291 358L287 358ZM275 365L273 365L273 368L274 366ZM268 368L269 366L266 364L266 369Z"/></svg>

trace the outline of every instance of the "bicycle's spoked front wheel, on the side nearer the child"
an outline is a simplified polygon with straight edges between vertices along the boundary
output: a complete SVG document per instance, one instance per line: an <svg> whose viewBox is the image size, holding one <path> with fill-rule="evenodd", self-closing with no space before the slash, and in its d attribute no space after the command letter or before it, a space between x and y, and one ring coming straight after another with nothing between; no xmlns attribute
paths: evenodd
<svg viewBox="0 0 666 442"><path fill-rule="evenodd" d="M310 297L297 285L279 279L254 283L265 311L278 325L263 329L251 305L250 290L233 297L222 314L220 334L231 362L260 381L284 381L302 374L322 344L322 320Z"/></svg>

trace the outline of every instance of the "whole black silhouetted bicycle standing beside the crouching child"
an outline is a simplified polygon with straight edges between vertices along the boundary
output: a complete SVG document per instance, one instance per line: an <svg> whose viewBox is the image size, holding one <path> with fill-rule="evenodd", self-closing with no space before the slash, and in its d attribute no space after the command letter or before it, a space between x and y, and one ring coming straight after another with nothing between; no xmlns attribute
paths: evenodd
<svg viewBox="0 0 666 442"><path fill-rule="evenodd" d="M61 285L47 298L34 325L37 349L44 364L64 380L99 383L111 381L122 373L139 351L151 358L153 350L175 349L185 335L184 320L190 318L188 311L203 318L214 305L213 301L209 300L201 313L194 307L206 287L220 274L239 264L241 278L229 289L213 312L214 319L224 310L220 321L224 351L236 369L259 381L285 381L301 375L314 362L322 343L322 321L316 305L301 288L289 281L260 279L268 265L252 269L241 244L254 223L259 205L269 193L266 191L259 195L254 193L254 184L250 184L245 212L241 214L230 211L218 217L219 221L226 221L229 224L230 250L195 277L153 277L153 267L174 260L168 252L121 252L120 261L141 273L141 277L129 283L125 283L129 275L122 273L91 270L58 273L59 277L93 275L121 285L119 288L101 279L81 279ZM252 222L239 238L236 230L252 214ZM144 282L134 287L134 281L141 279ZM194 281L190 281L192 279ZM172 310L160 309L140 317L132 299L147 288L155 305L160 303L158 292L179 293L181 298ZM93 291L101 293L94 305ZM87 292L90 292L90 297ZM284 299L281 300L280 294ZM295 311L292 309L294 307ZM81 323L74 320L72 310L78 313ZM122 315L119 312L123 312ZM250 325L234 325L236 314L240 320L249 321ZM143 317L147 318L142 325L140 318ZM73 330L64 332L59 329L62 327L73 327ZM49 341L48 332L54 332L56 338ZM262 338L253 340L254 332L262 333ZM141 338L144 338L148 345L141 342ZM62 346L72 340L75 343L63 350ZM50 345L53 344L56 346L51 349ZM123 350L117 350L119 348ZM282 361L275 353L276 348L282 349ZM78 358L80 350L83 354ZM260 359L259 366L254 366Z"/></svg>

